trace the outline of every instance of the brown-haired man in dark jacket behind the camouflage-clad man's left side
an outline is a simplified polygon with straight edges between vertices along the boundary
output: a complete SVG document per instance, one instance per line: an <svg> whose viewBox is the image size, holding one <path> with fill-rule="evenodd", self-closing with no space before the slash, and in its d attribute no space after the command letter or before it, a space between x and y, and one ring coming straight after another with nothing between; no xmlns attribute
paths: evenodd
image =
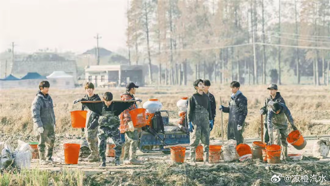
<svg viewBox="0 0 330 186"><path fill-rule="evenodd" d="M87 82L85 85L86 95L77 99L73 102L76 104L80 101L101 101L99 95L94 93L94 85L91 82ZM86 106L82 105L82 110L85 110ZM87 117L86 117L86 129L85 136L87 139L87 143L90 149L90 155L87 157L89 162L98 162L99 161L99 153L97 147L97 126L98 126L99 115L93 111L87 109ZM83 128L82 128L83 129Z"/></svg>

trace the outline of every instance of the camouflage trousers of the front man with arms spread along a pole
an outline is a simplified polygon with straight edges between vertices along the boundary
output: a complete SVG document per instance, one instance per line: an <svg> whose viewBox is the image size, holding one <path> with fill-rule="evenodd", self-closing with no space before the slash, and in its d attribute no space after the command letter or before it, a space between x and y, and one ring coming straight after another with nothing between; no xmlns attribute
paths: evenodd
<svg viewBox="0 0 330 186"><path fill-rule="evenodd" d="M98 127L99 133L97 134L98 141L99 141L99 155L100 161L106 162L105 151L107 149L107 139L111 137L115 143L115 161L119 162L119 158L121 155L121 137L120 131L118 128L109 128L106 126L99 126Z"/></svg>

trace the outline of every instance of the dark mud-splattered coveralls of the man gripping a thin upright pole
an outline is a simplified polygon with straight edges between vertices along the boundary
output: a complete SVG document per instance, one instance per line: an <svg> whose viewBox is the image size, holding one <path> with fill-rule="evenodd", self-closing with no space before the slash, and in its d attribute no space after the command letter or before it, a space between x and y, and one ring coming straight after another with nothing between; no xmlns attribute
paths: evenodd
<svg viewBox="0 0 330 186"><path fill-rule="evenodd" d="M243 131L245 118L248 115L248 100L239 92L230 97L229 107L223 108L224 113L229 113L228 126L227 126L227 139L235 139L237 145L243 143ZM242 126L242 130L237 130L237 126Z"/></svg>

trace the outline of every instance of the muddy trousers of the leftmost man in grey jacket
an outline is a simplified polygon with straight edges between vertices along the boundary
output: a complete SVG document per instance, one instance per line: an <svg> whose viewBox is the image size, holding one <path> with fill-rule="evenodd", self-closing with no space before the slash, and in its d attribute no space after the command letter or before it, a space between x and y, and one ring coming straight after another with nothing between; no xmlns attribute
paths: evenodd
<svg viewBox="0 0 330 186"><path fill-rule="evenodd" d="M51 160L53 155L53 147L55 141L55 132L53 126L46 126L44 127L43 133L37 134L37 140L39 141L38 150L41 160L45 159L45 147L47 146L47 160Z"/></svg>

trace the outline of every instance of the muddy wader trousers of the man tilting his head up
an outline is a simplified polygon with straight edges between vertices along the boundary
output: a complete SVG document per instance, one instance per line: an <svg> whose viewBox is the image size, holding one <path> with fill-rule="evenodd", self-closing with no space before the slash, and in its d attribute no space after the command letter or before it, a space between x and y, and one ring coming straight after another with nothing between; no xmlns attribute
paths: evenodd
<svg viewBox="0 0 330 186"><path fill-rule="evenodd" d="M209 145L210 145L210 123L205 121L194 126L193 132L190 133L190 161L195 162L196 148L201 141L203 146L203 161L209 162Z"/></svg>

